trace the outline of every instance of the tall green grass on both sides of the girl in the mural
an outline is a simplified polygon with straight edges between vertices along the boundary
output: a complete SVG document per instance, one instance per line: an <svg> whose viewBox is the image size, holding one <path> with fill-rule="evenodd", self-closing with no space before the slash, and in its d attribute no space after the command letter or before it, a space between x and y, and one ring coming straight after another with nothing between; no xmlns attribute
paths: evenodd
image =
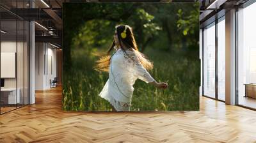
<svg viewBox="0 0 256 143"><path fill-rule="evenodd" d="M98 96L108 80L108 73L93 70L93 52L76 49L72 52L72 69L63 73L63 110L110 111L110 104ZM88 54L90 53L90 54ZM168 82L168 89L136 80L131 110L199 110L200 61L196 51L166 52L147 49L154 62L150 74L159 82Z"/></svg>

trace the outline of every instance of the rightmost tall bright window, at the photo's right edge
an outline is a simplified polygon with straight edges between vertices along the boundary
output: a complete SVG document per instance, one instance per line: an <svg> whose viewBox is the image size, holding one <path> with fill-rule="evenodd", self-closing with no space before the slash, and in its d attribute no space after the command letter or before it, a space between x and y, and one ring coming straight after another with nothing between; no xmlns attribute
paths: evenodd
<svg viewBox="0 0 256 143"><path fill-rule="evenodd" d="M256 109L256 3L237 11L238 104Z"/></svg>

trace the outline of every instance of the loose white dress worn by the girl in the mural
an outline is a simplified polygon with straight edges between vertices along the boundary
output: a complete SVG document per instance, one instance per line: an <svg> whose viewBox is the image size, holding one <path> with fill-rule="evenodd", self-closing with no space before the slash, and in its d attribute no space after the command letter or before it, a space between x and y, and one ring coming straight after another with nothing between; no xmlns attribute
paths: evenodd
<svg viewBox="0 0 256 143"><path fill-rule="evenodd" d="M126 54L125 54L126 52ZM109 79L99 96L108 100L117 111L129 111L137 79L153 82L154 79L140 63L137 54L131 50L117 49L110 59ZM132 60L133 59L133 60Z"/></svg>

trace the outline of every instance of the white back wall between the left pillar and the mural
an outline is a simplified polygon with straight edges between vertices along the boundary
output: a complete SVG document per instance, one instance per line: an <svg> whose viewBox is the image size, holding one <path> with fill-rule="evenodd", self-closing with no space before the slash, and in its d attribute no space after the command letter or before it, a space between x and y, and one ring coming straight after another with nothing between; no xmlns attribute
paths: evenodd
<svg viewBox="0 0 256 143"><path fill-rule="evenodd" d="M53 48L49 43L36 43L36 90L51 88L50 79L56 77L56 49Z"/></svg>

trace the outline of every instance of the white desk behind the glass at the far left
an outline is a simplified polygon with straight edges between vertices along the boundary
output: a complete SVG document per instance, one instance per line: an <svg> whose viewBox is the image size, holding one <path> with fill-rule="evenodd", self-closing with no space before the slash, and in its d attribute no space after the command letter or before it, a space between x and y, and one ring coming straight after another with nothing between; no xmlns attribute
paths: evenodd
<svg viewBox="0 0 256 143"><path fill-rule="evenodd" d="M16 98L16 88L4 88L1 89L1 102L4 104L16 104L20 103L20 89L17 88L18 94Z"/></svg>

